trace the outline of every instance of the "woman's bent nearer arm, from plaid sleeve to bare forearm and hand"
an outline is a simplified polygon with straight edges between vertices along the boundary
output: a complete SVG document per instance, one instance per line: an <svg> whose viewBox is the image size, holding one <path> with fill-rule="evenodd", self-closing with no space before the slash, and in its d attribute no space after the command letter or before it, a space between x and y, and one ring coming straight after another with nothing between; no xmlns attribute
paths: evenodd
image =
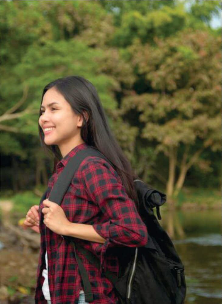
<svg viewBox="0 0 222 304"><path fill-rule="evenodd" d="M102 159L87 162L81 171L88 196L98 204L103 213L103 223L71 223L63 209L48 199L43 201L43 222L57 234L102 244L106 241L108 247L115 244L144 246L147 243L147 229L135 203L117 180L116 172L111 172L107 168L108 164L104 165L102 162Z"/></svg>

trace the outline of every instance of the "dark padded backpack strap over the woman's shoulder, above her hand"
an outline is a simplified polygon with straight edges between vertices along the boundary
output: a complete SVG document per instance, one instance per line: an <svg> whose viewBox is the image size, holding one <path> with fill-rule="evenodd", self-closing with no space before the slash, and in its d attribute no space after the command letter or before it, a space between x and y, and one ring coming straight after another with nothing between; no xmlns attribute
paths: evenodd
<svg viewBox="0 0 222 304"><path fill-rule="evenodd" d="M110 163L110 161L102 153L93 147L88 147L85 150L78 151L75 156L68 161L68 164L59 175L57 182L50 193L50 201L55 202L58 205L61 204L75 172L87 156L98 156Z"/></svg>

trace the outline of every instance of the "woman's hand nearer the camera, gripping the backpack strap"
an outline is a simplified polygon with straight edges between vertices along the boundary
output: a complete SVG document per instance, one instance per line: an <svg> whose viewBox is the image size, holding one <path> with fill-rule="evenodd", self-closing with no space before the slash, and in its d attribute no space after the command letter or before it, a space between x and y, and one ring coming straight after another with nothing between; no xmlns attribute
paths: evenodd
<svg viewBox="0 0 222 304"><path fill-rule="evenodd" d="M43 223L53 232L63 235L66 226L70 224L63 209L56 203L44 199L42 209L44 214Z"/></svg>

